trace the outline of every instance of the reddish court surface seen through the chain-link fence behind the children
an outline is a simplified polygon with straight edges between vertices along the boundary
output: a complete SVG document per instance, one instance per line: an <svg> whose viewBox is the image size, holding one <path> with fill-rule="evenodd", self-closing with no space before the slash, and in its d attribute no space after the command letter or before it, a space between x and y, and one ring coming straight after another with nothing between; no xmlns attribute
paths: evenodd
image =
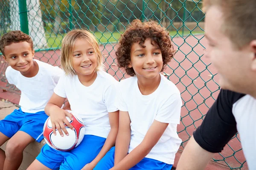
<svg viewBox="0 0 256 170"><path fill-rule="evenodd" d="M183 147L186 146L187 140L189 139L189 135L191 136L196 127L201 125L204 115L218 96L218 75L215 75L216 70L210 64L210 60L203 56L204 47L207 45L203 35L184 38L177 37L173 38L173 42L176 44L174 48L177 50L177 53L174 59L169 63L169 66L166 67L164 73L167 75L168 79L177 85L183 99L181 121L180 125L177 127L179 137L183 141L180 150L183 150ZM116 45L101 45L101 49L105 56L104 64L108 73L113 75L117 80L127 78L128 75L123 74L123 71L120 71L116 66ZM60 65L58 61L59 54L59 50L37 52L35 59L40 59L52 65ZM7 88L7 92L0 91L0 98L8 99L10 102L17 104L20 97L19 92L14 92L14 89L8 90L9 87L6 87L4 71L7 67L7 63L2 61L0 64L2 74L0 87ZM181 151L177 153L175 164L177 164L180 154ZM237 137L229 142L229 146L227 145L224 148L221 155L218 153L215 154L214 159L224 159L224 161L218 161L218 163L212 161L207 166L207 170L248 169L241 150L239 138ZM228 167L227 164L229 164L230 167ZM243 164L243 167L238 168L241 167L241 164Z"/></svg>

